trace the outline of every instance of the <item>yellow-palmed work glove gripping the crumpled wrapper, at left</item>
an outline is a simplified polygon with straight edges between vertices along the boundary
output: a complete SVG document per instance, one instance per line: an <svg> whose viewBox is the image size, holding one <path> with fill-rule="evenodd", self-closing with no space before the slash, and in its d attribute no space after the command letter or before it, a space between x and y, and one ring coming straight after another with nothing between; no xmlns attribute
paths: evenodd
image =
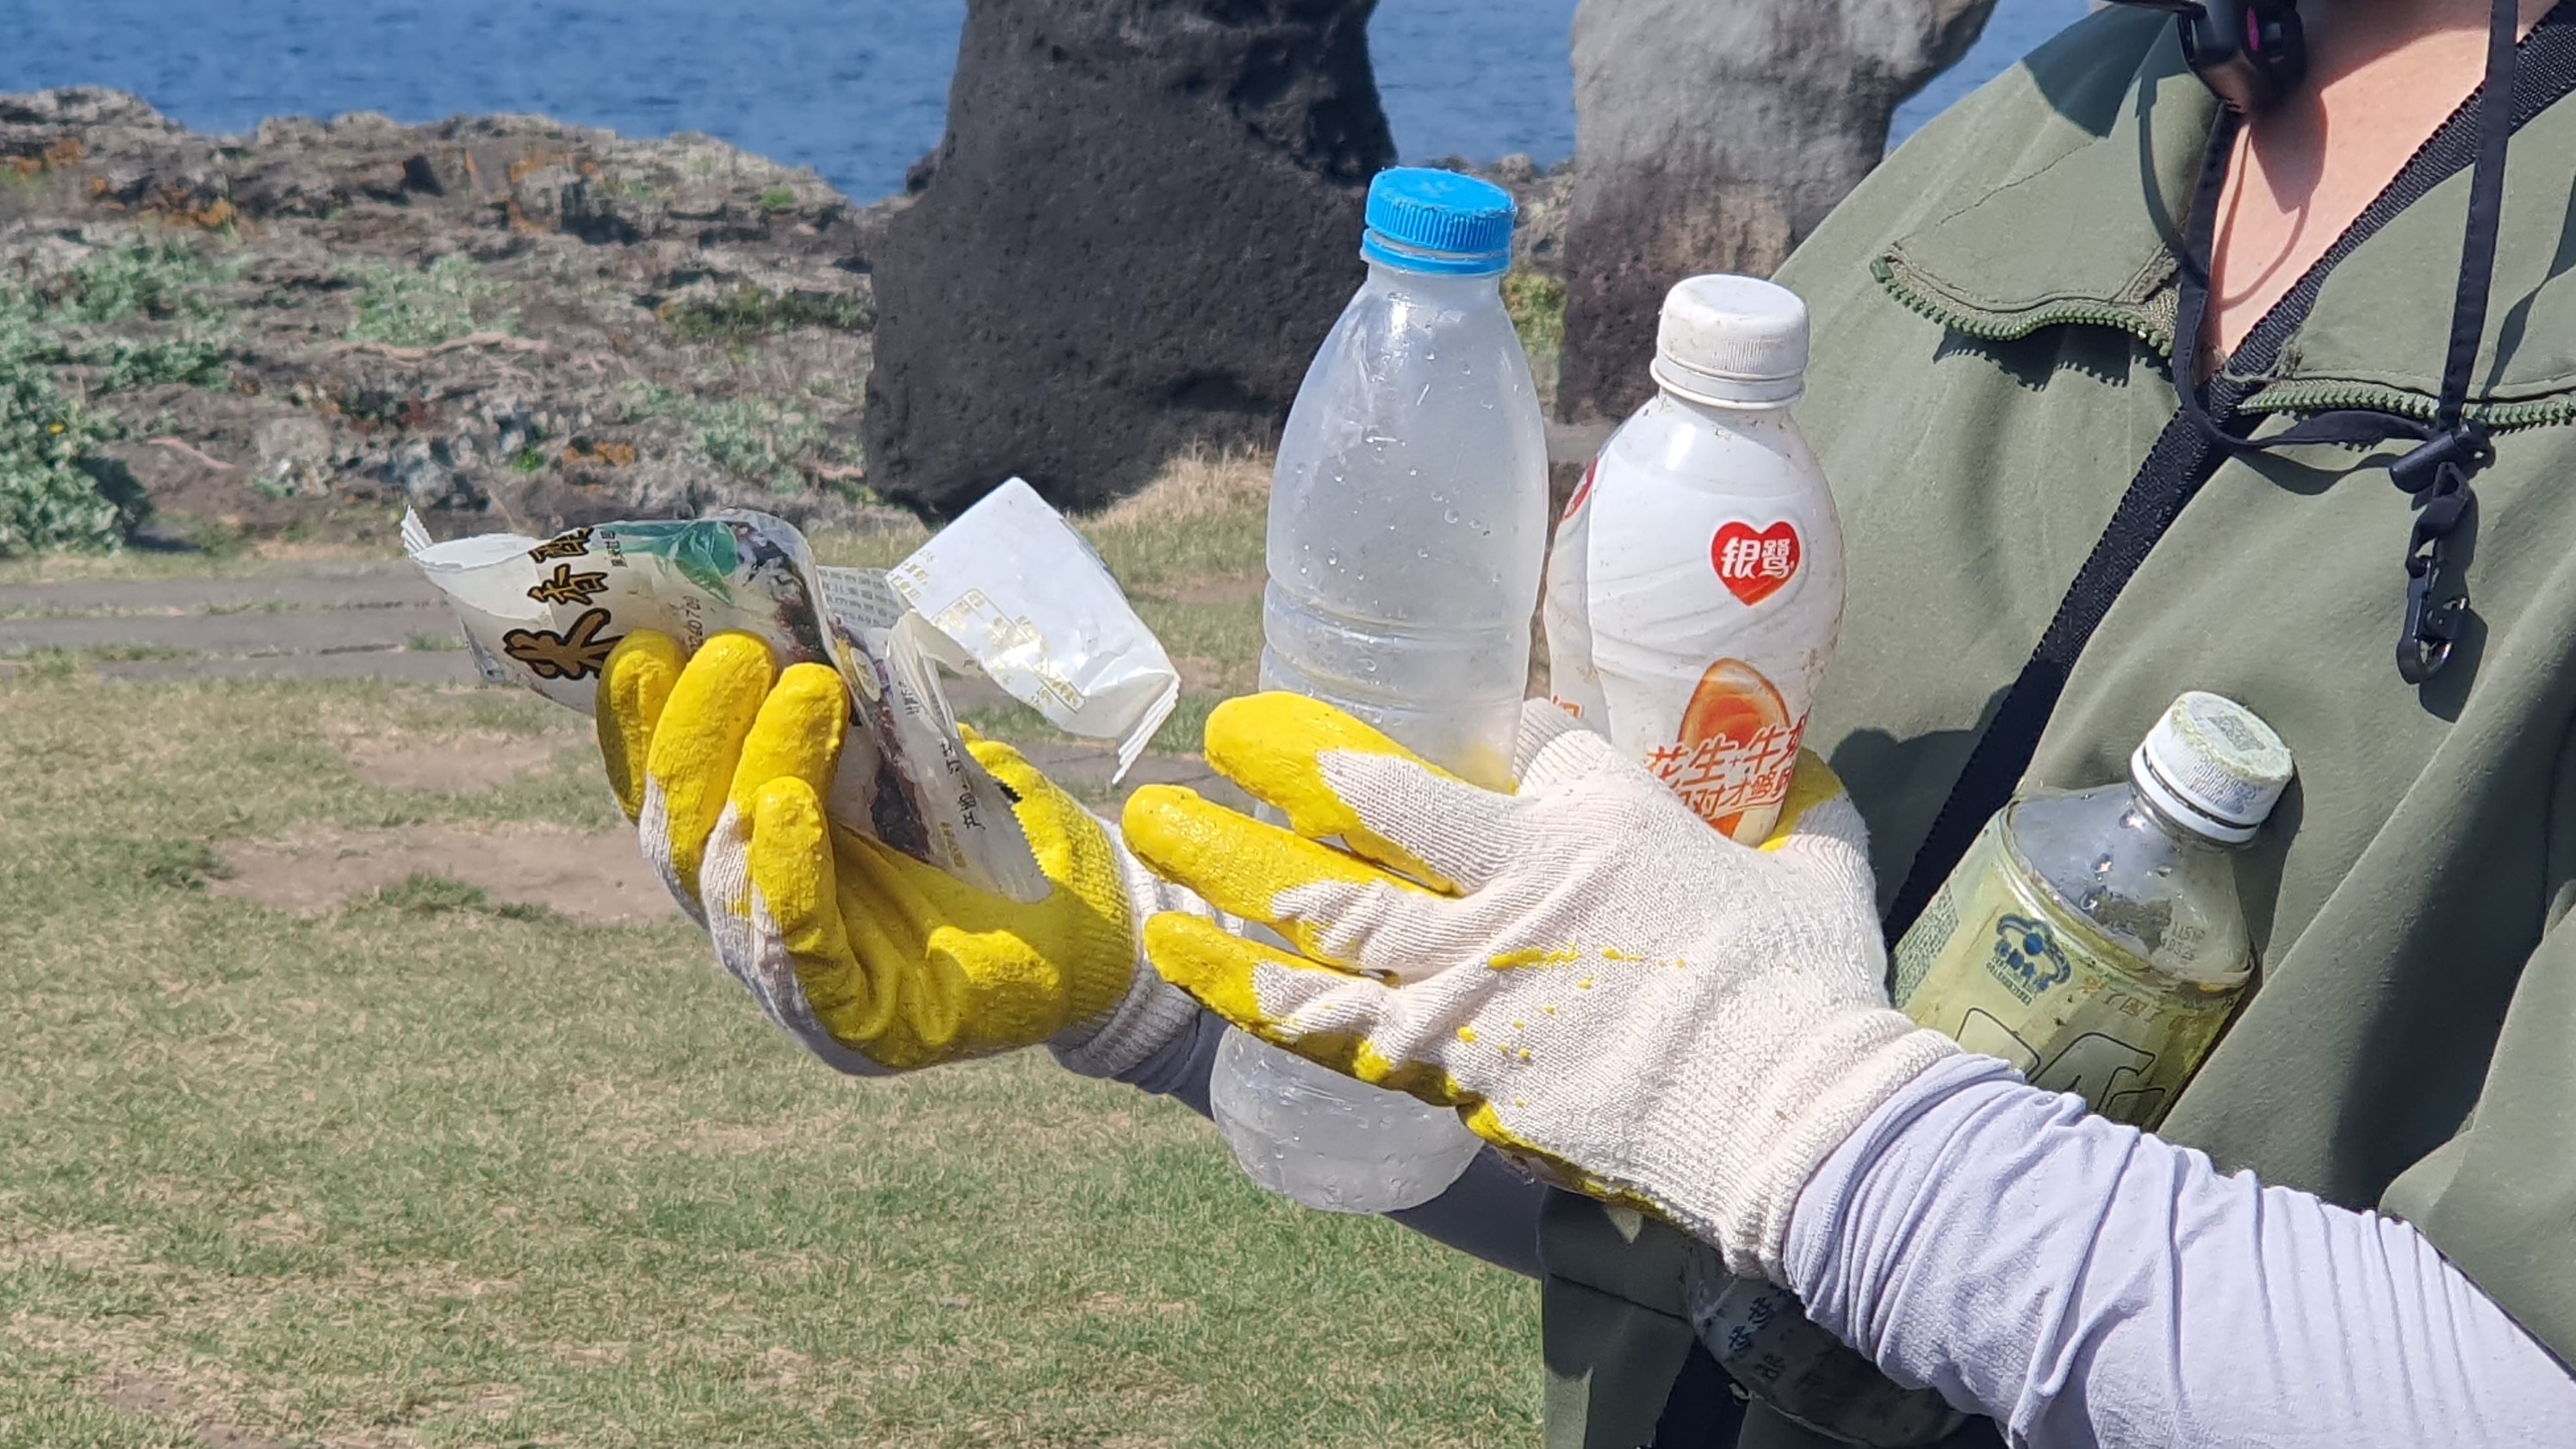
<svg viewBox="0 0 2576 1449"><path fill-rule="evenodd" d="M848 695L822 664L778 674L742 633L683 664L672 638L634 633L600 677L598 731L644 854L716 960L840 1071L1046 1042L1074 1071L1115 1076L1195 1017L1136 939L1146 909L1190 901L1005 744L969 749L1015 795L1054 885L1028 906L829 818Z"/></svg>

